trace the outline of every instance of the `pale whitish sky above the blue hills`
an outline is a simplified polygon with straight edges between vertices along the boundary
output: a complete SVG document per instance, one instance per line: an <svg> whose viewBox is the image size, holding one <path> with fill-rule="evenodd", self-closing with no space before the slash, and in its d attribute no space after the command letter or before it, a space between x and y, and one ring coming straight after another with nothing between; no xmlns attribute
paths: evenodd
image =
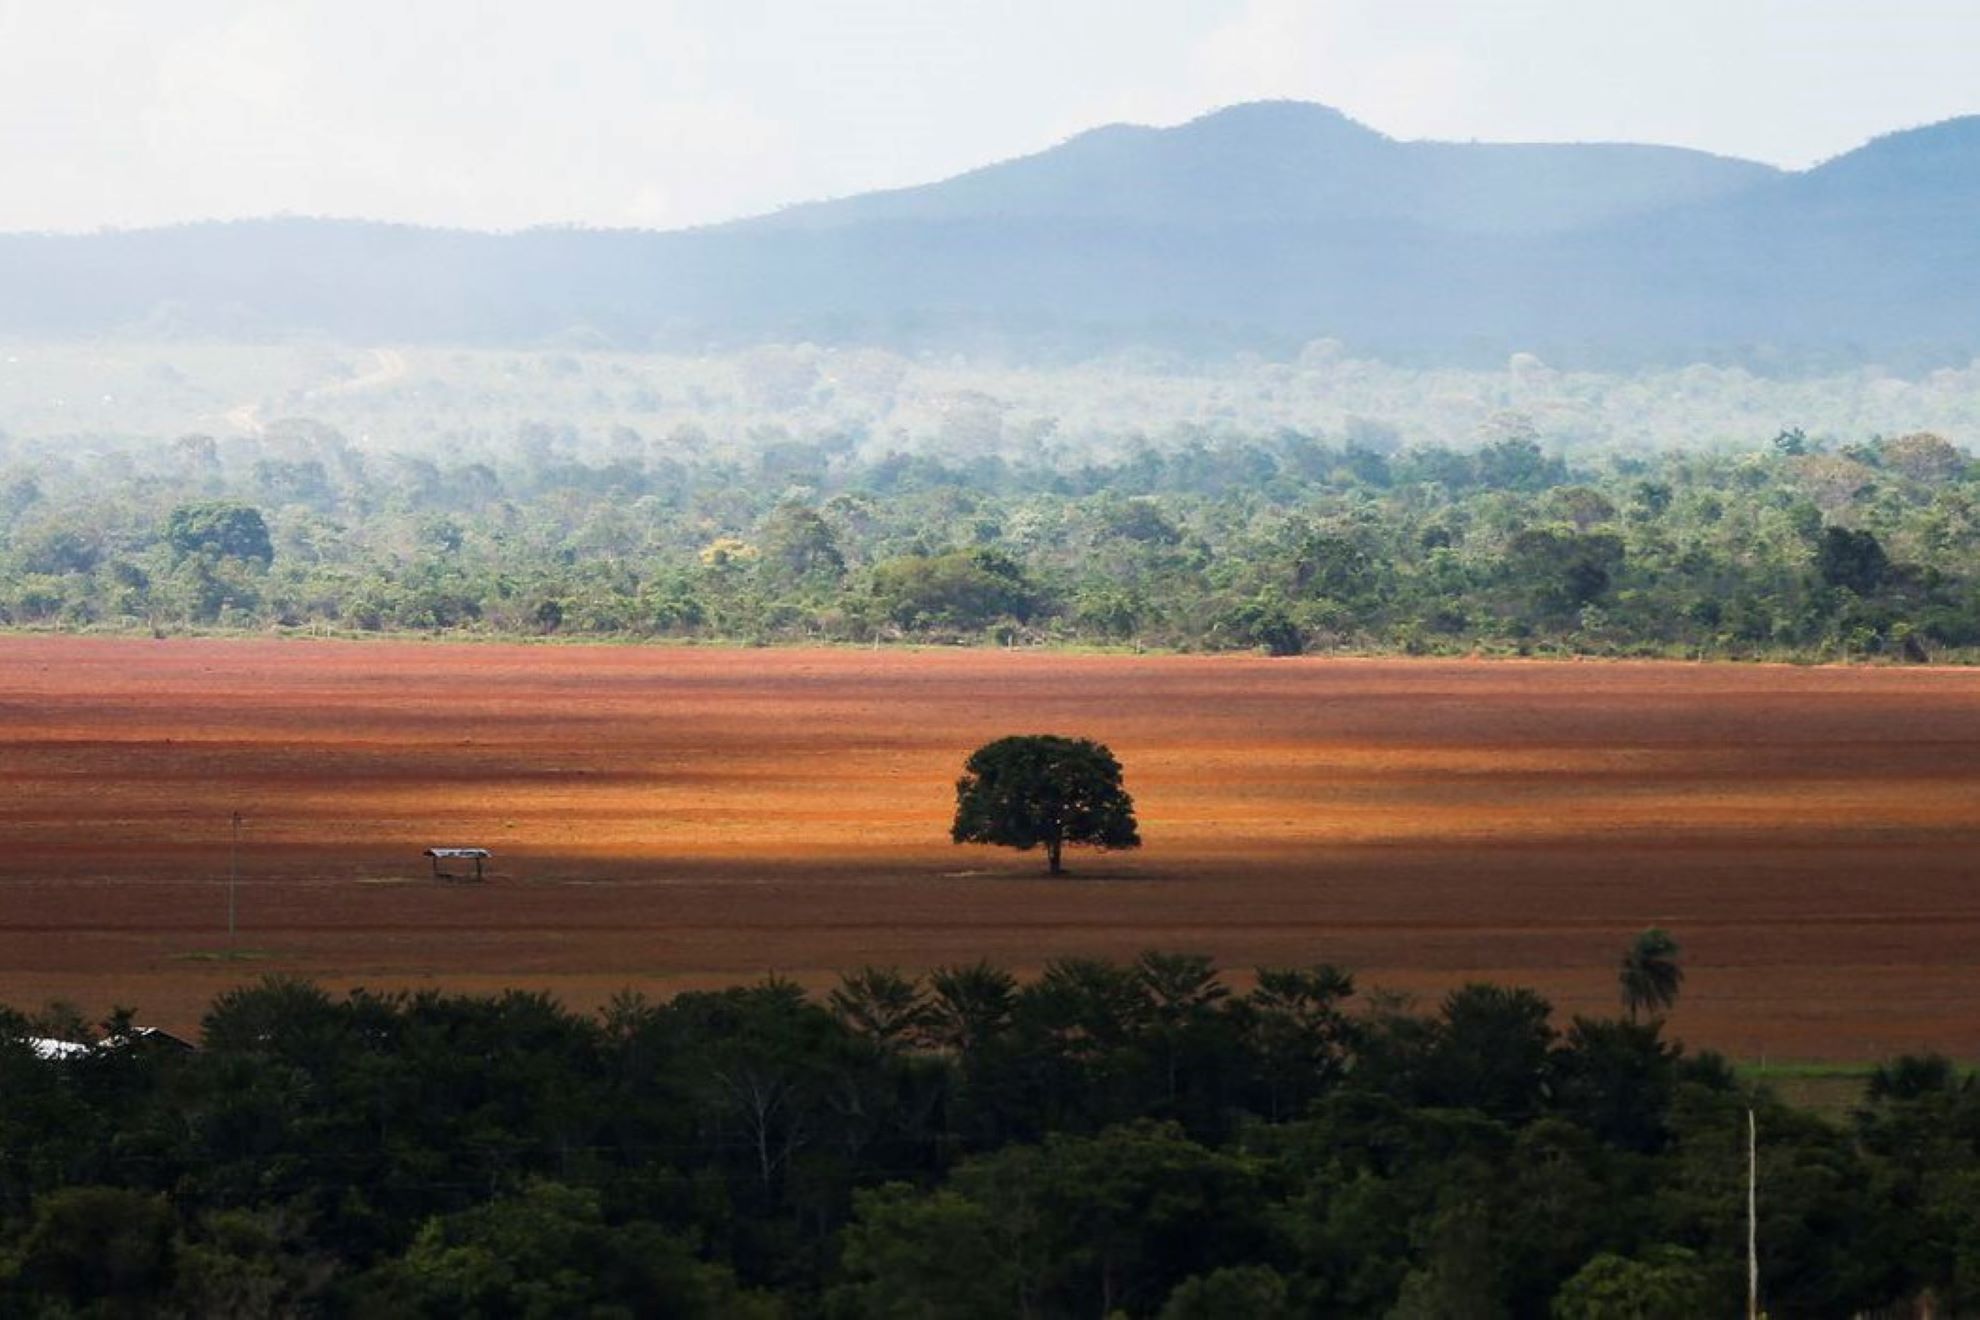
<svg viewBox="0 0 1980 1320"><path fill-rule="evenodd" d="M1980 2L0 0L0 230L681 228L1273 97L1804 168L1980 113Z"/></svg>

